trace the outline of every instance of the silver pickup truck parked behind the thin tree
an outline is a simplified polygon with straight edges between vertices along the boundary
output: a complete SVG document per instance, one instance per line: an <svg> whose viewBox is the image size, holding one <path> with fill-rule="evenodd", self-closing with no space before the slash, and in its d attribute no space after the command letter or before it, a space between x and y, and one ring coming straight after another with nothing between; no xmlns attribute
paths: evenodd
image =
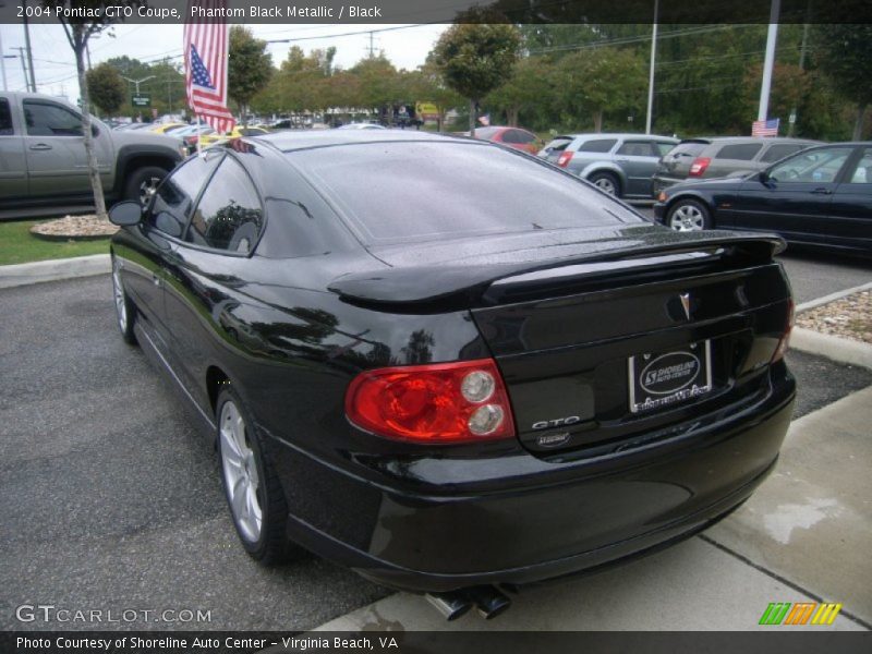
<svg viewBox="0 0 872 654"><path fill-rule="evenodd" d="M107 201L145 201L182 159L181 142L113 132L94 119L94 148ZM0 218L93 204L82 114L46 95L0 92Z"/></svg>

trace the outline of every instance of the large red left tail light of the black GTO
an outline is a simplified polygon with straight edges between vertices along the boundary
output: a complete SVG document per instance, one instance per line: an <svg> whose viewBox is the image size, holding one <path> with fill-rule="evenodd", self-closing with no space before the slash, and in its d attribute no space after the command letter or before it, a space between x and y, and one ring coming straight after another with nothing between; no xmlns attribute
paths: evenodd
<svg viewBox="0 0 872 654"><path fill-rule="evenodd" d="M514 436L509 397L492 359L361 373L346 391L346 414L366 432L422 444Z"/></svg>

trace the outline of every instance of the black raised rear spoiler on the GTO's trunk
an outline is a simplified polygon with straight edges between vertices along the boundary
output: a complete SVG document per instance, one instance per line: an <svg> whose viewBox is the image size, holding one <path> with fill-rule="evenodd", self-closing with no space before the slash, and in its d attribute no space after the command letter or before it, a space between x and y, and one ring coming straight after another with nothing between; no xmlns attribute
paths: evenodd
<svg viewBox="0 0 872 654"><path fill-rule="evenodd" d="M773 234L723 231L657 231L640 239L604 243L607 250L578 256L507 264L397 267L342 275L328 290L343 301L393 312L429 313L520 301L523 291L573 287L579 282L618 283L627 276L656 274L665 267L729 267L768 263L786 247Z"/></svg>

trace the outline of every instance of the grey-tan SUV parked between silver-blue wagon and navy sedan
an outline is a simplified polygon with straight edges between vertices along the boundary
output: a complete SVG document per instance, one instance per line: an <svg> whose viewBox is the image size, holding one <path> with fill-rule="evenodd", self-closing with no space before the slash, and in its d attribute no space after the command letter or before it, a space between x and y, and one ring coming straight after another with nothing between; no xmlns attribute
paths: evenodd
<svg viewBox="0 0 872 654"><path fill-rule="evenodd" d="M661 159L651 194L656 198L661 191L686 179L741 177L763 170L774 161L820 143L803 138L759 136L687 138Z"/></svg>

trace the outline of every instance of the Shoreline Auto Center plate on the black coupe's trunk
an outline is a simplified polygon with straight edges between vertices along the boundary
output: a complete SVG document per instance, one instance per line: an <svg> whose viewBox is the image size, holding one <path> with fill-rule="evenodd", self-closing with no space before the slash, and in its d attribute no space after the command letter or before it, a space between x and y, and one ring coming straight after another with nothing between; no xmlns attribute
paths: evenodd
<svg viewBox="0 0 872 654"><path fill-rule="evenodd" d="M630 356L630 411L653 411L712 390L712 343Z"/></svg>

